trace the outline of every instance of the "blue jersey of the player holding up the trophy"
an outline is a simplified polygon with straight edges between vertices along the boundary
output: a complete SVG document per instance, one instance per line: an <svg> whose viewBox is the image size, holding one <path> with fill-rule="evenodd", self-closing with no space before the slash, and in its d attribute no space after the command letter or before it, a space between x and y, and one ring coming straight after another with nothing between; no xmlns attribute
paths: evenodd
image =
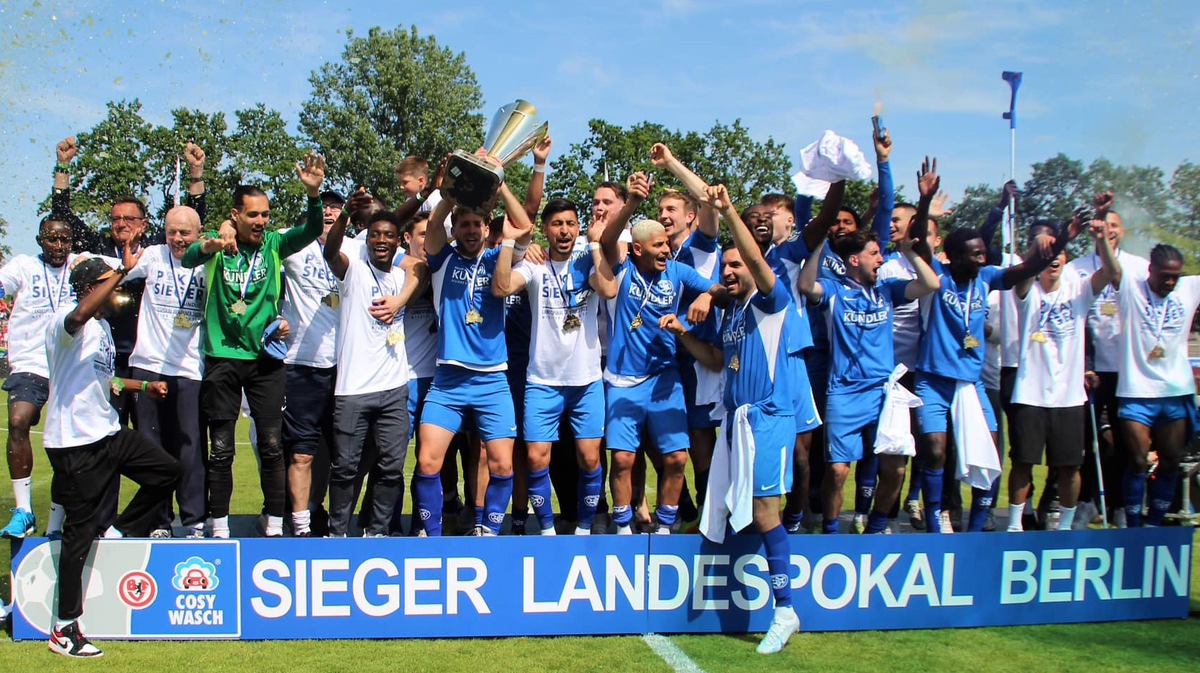
<svg viewBox="0 0 1200 673"><path fill-rule="evenodd" d="M433 274L433 305L438 310L438 362L458 363L484 372L506 368L504 300L492 294L492 276L500 248L468 259L448 245L428 256ZM474 320L475 317L482 322ZM472 324L467 324L472 318Z"/></svg>

